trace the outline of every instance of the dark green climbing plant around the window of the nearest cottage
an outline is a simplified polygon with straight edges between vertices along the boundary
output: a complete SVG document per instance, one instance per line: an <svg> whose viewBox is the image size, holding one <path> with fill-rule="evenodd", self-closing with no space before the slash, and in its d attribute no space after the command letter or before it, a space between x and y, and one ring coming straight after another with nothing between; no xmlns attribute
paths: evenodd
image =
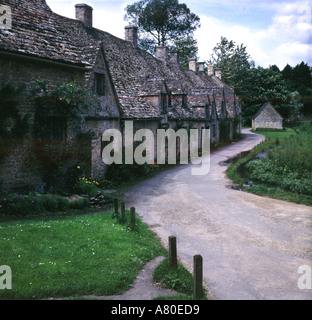
<svg viewBox="0 0 312 320"><path fill-rule="evenodd" d="M91 133L82 131L82 119L97 103L94 95L74 83L64 83L56 88L41 80L36 81L34 133L35 154L42 164L46 190L68 190L78 181L79 174L90 168ZM75 123L75 134L70 140L55 138L51 134L51 119L70 119ZM77 169L79 168L79 170Z"/></svg>

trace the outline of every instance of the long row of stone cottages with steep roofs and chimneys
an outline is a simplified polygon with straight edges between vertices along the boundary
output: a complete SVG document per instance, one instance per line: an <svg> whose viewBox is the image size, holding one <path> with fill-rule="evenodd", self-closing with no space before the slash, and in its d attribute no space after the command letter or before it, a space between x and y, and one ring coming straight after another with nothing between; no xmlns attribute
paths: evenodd
<svg viewBox="0 0 312 320"><path fill-rule="evenodd" d="M50 137L71 141L78 132L90 133L88 161L96 179L105 177L103 132L122 131L127 120L134 122L134 130L155 133L158 128L210 128L212 142L219 140L222 125L228 126L229 139L240 132L240 101L234 88L222 81L221 70L208 66L206 73L204 63L195 59L188 70L182 69L178 53L166 47L157 47L153 56L138 48L133 26L125 27L125 39L98 30L92 26L93 9L86 4L77 4L76 19L70 19L52 12L45 0L1 3L11 9L12 27L0 28L0 89L4 82L25 87L18 112L27 116L29 127L20 137L22 143L0 158L4 190L37 190L42 183L31 152L37 117L32 92L38 80L49 88L75 83L96 95L97 105L81 114L78 124L46 106Z"/></svg>

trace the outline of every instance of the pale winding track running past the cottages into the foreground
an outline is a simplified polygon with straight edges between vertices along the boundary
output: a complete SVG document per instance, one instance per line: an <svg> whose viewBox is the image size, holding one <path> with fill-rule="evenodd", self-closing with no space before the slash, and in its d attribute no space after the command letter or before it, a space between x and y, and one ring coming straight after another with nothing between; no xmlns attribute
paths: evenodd
<svg viewBox="0 0 312 320"><path fill-rule="evenodd" d="M211 155L211 170L192 176L191 165L165 171L125 192L164 245L175 235L180 260L192 270L204 259L204 281L215 299L312 299L300 290L301 265L312 267L312 207L227 188L220 162L252 149L246 138Z"/></svg>

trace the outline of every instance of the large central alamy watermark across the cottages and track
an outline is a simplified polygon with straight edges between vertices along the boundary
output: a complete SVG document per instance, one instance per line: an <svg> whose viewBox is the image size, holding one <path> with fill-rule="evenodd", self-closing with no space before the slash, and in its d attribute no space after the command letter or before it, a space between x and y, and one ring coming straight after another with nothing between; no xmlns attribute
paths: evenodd
<svg viewBox="0 0 312 320"><path fill-rule="evenodd" d="M134 134L133 121L126 121L124 137L118 129L108 129L102 135L106 146L102 151L105 164L188 164L189 160L198 167L192 167L192 175L206 175L210 171L210 129L149 129L137 130ZM113 141L111 141L113 138ZM124 139L123 139L124 138ZM110 142L110 143L108 143ZM134 147L136 145L136 148ZM156 149L156 151L155 151ZM124 152L123 152L124 151ZM178 152L177 152L178 151Z"/></svg>

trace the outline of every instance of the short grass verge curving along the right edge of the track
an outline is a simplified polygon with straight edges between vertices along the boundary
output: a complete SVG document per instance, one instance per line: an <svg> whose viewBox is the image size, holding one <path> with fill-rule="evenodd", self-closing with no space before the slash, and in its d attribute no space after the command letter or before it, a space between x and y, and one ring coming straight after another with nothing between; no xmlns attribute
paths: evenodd
<svg viewBox="0 0 312 320"><path fill-rule="evenodd" d="M244 173L242 173L242 168L244 168L244 165L248 161L254 159L255 156L260 153L265 153L268 150L275 149L277 146L286 145L290 141L290 138L296 135L295 130L289 128L284 131L256 131L255 133L264 135L266 140L260 145L256 146L247 156L238 159L233 164L231 164L231 166L227 169L228 177L233 182L238 184L239 189L243 189L260 196L269 196L275 199L281 199L312 206L311 195L284 190L283 188L279 188L276 185L274 186L271 184L256 181L254 185L251 185L248 188L244 187L244 185L248 183L248 180L250 180ZM293 150L289 150L289 154L291 152L293 152ZM298 166L300 166L299 162Z"/></svg>

